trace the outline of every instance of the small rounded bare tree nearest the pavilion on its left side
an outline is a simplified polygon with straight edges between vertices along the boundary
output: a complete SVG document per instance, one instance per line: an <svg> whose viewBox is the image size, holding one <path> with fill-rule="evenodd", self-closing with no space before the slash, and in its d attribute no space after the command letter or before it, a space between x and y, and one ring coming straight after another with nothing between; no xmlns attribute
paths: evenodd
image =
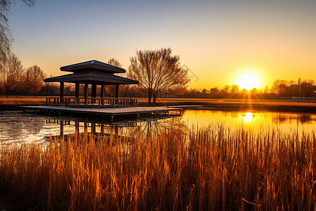
<svg viewBox="0 0 316 211"><path fill-rule="evenodd" d="M45 74L39 66L34 65L31 68L27 68L25 84L27 91L33 92L36 96L37 92L44 86Z"/></svg>

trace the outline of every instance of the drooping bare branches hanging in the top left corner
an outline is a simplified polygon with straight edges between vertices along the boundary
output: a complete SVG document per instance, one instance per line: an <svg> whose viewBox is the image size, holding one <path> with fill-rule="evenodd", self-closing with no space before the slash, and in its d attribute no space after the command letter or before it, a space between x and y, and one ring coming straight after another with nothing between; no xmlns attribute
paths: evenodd
<svg viewBox="0 0 316 211"><path fill-rule="evenodd" d="M22 0L27 6L34 6L34 0ZM8 27L8 13L15 0L0 0L0 72L4 70L4 61L11 52L11 32Z"/></svg>

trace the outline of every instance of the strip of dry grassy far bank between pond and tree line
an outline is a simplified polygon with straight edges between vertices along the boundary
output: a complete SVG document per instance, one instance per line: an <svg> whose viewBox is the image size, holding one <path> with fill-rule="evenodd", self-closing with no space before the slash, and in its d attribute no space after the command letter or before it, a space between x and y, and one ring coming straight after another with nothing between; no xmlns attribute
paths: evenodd
<svg viewBox="0 0 316 211"><path fill-rule="evenodd" d="M14 101L13 101L14 100ZM140 98L139 106L149 106ZM46 105L46 98L0 98L0 110L21 110L20 106ZM253 98L157 98L151 106L201 105L211 110L267 110L275 112L316 113L316 100ZM200 108L199 108L200 109Z"/></svg>

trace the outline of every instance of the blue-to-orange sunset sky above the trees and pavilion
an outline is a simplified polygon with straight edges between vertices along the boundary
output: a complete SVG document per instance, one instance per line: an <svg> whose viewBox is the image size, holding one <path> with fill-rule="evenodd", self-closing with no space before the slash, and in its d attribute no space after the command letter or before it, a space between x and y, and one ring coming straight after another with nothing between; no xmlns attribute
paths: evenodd
<svg viewBox="0 0 316 211"><path fill-rule="evenodd" d="M316 80L316 1L21 1L11 6L13 52L50 76L86 60L116 58L126 70L136 50L171 48L189 69L190 88L237 84L256 75Z"/></svg>

